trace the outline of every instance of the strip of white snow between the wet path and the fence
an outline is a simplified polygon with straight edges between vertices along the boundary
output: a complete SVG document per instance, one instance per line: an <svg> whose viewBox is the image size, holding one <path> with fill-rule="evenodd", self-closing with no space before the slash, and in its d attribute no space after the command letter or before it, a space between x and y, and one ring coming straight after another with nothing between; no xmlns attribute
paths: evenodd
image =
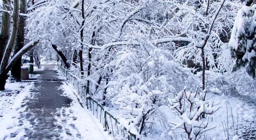
<svg viewBox="0 0 256 140"><path fill-rule="evenodd" d="M70 107L62 108L62 110L65 110L65 116L62 117L65 117L67 122L61 123L59 120L60 125L64 128L75 127L80 133L82 140L113 140L113 138L104 131L103 125L93 117L93 114L81 106L75 95L75 90L71 88L71 85L63 82L60 88L64 91L63 94L65 96L72 99ZM70 133L73 133L73 135L77 134L75 131ZM69 138L65 133L61 135L64 138Z"/></svg>

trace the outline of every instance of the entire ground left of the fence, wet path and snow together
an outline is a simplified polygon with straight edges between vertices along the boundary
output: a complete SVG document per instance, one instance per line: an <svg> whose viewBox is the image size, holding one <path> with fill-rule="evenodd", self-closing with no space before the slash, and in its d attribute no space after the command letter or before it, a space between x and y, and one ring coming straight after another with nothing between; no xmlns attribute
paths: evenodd
<svg viewBox="0 0 256 140"><path fill-rule="evenodd" d="M47 66L47 70L56 70L56 67ZM54 77L54 75L51 76ZM45 74L41 76L43 78ZM56 78L65 79L57 74ZM50 86L46 86L47 83ZM0 92L0 140L45 138L113 140L108 132L104 131L103 125L97 118L94 118L93 114L80 104L75 90L70 87L71 85L66 82L42 82L40 80L7 83L6 90ZM49 92L60 91L56 92L57 96L54 97L65 97L63 103L66 102L66 104L60 104L60 108L57 106L55 108L54 105L59 104L54 103L54 99L49 97L54 93L47 93L47 90ZM59 99L56 102L59 102Z"/></svg>

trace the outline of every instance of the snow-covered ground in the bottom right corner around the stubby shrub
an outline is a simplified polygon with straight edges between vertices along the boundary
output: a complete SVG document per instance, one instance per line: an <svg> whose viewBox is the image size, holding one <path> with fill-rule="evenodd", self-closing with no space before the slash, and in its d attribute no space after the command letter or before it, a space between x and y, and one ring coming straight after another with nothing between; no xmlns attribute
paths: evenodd
<svg viewBox="0 0 256 140"><path fill-rule="evenodd" d="M235 131L235 135L237 134L240 137L248 133L248 135L253 135L255 138L255 133L254 133L256 129L256 104L255 103L248 103L248 100L242 100L236 97L228 97L226 95L218 95L213 93L208 93L207 97L210 98L210 100L213 100L215 104L220 108L219 110L217 110L217 112L211 115L209 119L209 126L207 127L207 129L210 129L210 130L205 132L204 134L205 138L207 137L207 139L213 138L215 140L225 140L226 138L228 138L227 131L225 128L227 126L229 130L229 140L231 140L232 137L234 137L234 131ZM231 108L232 108L232 112L231 112ZM180 122L180 118L178 118L178 116L176 116L169 109L169 107L164 106L160 110L161 112L163 112L163 118L164 117L168 118L169 122ZM233 115L233 118L232 118L232 115ZM237 115L238 115L238 120L237 120ZM227 119L228 119L228 125L227 125ZM233 125L233 121L234 121L234 125ZM238 125L237 125L237 122L238 122ZM224 125L225 132L224 132L222 123ZM174 125L170 125L170 123L168 125L170 126L170 128L174 127ZM159 131L159 133L153 133L149 135L150 139L158 140L161 137L163 140L165 140L164 135L167 135L168 132L166 133L166 131L159 129L161 128L161 126L159 127L156 126L155 128L156 130ZM184 133L182 133L184 130L181 128L180 129L178 128L177 130L172 130L172 131L175 136L174 138L177 137L178 140L182 139L181 135L183 135L183 137L185 135ZM156 137L156 135L159 135L159 136ZM242 139L243 138L241 138L241 140Z"/></svg>

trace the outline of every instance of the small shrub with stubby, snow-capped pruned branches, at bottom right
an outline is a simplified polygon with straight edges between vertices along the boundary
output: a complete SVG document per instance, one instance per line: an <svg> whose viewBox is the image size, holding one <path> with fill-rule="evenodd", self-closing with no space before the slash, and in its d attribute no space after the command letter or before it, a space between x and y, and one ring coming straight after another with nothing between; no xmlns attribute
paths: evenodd
<svg viewBox="0 0 256 140"><path fill-rule="evenodd" d="M192 93L184 87L174 98L168 99L169 107L180 118L180 122L170 122L172 125L175 125L171 129L184 129L186 139L196 140L200 138L203 132L209 130L207 128L209 116L201 117L203 114L212 115L219 109L219 107L214 105L214 102L202 100L205 92L206 90L203 93L199 93L196 90L195 93Z"/></svg>

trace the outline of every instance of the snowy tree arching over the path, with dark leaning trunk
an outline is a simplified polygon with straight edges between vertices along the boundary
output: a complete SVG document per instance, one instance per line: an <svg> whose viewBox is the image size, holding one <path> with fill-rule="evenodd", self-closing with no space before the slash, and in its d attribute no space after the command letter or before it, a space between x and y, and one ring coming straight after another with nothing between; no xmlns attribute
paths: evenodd
<svg viewBox="0 0 256 140"><path fill-rule="evenodd" d="M27 19L27 39L39 40L42 47L54 48L68 68L70 64L65 53L77 48L80 40L76 32L80 23L74 9L68 2L50 1L47 6L34 10Z"/></svg>

